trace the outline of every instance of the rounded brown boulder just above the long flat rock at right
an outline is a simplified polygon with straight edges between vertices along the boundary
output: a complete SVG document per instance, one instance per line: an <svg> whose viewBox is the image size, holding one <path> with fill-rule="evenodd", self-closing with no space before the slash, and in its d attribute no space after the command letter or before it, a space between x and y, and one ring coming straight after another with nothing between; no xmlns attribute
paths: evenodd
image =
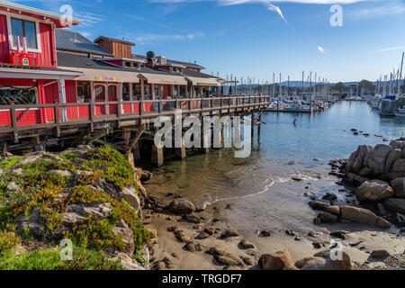
<svg viewBox="0 0 405 288"><path fill-rule="evenodd" d="M356 190L356 198L360 202L378 202L391 198L394 192L392 187L381 180L366 181Z"/></svg>

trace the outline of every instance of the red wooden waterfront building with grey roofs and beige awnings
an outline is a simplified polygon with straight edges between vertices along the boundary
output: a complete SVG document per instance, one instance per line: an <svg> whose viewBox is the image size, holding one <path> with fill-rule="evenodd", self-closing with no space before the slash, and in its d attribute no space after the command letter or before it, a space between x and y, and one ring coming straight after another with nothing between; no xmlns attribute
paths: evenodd
<svg viewBox="0 0 405 288"><path fill-rule="evenodd" d="M67 122L89 118L88 106L80 103L94 103L92 116L108 117L118 109L121 114L139 113L138 104L117 105L117 101L141 99L142 112L152 112L162 109L153 100L220 91L221 79L201 73L204 67L156 57L153 52L146 57L132 54L135 44L127 40L102 36L91 41L63 29L60 19L58 14L0 3L0 128L14 119L10 109L2 109L10 103L78 103L58 110L59 121ZM79 23L73 19L69 25ZM18 45L22 40L23 52ZM165 103L168 108L170 104ZM55 113L52 107L17 108L16 125L53 123Z"/></svg>

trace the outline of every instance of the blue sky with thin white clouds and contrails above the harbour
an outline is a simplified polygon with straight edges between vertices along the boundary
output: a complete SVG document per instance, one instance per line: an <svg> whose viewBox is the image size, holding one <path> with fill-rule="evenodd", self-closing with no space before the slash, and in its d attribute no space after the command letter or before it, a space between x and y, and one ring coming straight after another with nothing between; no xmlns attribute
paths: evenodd
<svg viewBox="0 0 405 288"><path fill-rule="evenodd" d="M405 51L405 0L21 0L58 12L70 4L74 28L134 41L133 52L197 61L206 73L272 81L302 70L331 82L376 80ZM332 4L343 26L332 27ZM277 76L278 77L278 76Z"/></svg>

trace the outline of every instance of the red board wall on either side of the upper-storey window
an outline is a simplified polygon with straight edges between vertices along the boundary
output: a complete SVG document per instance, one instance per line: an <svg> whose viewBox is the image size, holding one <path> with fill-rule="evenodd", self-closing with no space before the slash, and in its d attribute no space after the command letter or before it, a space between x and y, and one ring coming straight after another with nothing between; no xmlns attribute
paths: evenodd
<svg viewBox="0 0 405 288"><path fill-rule="evenodd" d="M9 56L13 50L9 49L7 18L4 14L0 14L0 33L0 62L9 63ZM33 53L37 57L37 65L57 67L55 31L50 24L40 23L40 48L41 53Z"/></svg>

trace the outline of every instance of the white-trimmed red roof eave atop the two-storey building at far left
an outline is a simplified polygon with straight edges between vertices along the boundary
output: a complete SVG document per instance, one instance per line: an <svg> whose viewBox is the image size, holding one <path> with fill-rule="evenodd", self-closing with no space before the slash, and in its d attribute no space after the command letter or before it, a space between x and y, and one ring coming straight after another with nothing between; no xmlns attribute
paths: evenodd
<svg viewBox="0 0 405 288"><path fill-rule="evenodd" d="M3 0L0 0L0 10L4 10L7 12L13 12L15 14L23 14L23 15L39 18L42 20L49 19L53 23L55 23L58 28L63 27L63 26L77 25L77 24L80 24L83 22L80 19L72 18L72 22L69 25L64 25L64 23L62 23L62 21L61 21L62 16L60 14L55 14L52 12L40 10L37 8L32 8L29 6L22 5L22 4L15 4L15 3L3 1Z"/></svg>

